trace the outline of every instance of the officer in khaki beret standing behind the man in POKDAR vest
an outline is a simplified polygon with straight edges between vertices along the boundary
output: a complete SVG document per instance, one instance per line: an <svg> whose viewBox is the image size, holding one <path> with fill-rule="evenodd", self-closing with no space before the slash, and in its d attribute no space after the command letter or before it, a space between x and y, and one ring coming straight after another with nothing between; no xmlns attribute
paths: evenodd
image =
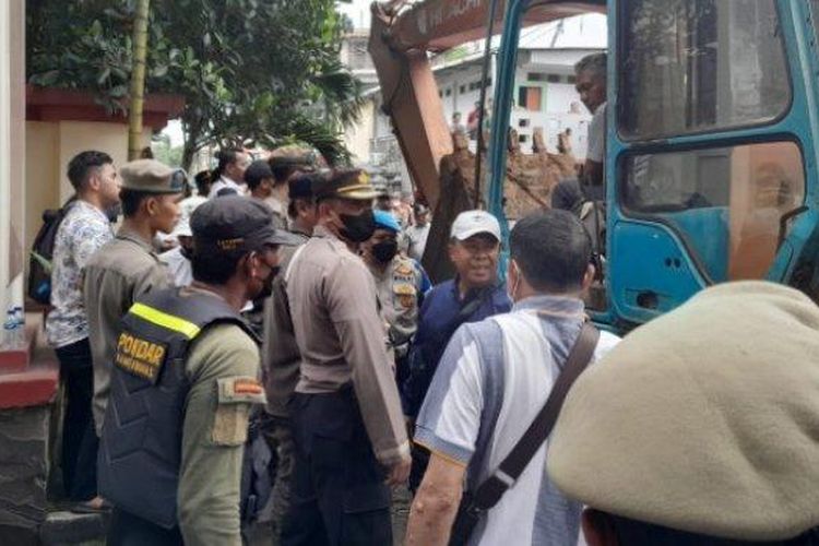
<svg viewBox="0 0 819 546"><path fill-rule="evenodd" d="M88 314L94 364L94 426L99 436L108 403L110 366L117 349L120 320L134 298L167 288L174 280L152 241L157 232L169 234L179 219L187 177L154 159L138 159L120 169L122 227L88 260L83 299Z"/></svg>

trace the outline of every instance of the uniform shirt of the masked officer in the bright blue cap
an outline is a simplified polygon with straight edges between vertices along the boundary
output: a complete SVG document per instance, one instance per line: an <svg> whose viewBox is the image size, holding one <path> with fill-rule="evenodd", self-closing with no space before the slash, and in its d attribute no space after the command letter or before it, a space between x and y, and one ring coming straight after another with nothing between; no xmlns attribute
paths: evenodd
<svg viewBox="0 0 819 546"><path fill-rule="evenodd" d="M390 343L396 356L406 353L407 344L418 330L418 297L422 295L420 271L412 260L395 256L381 271L369 265L376 280L381 312L390 327Z"/></svg>

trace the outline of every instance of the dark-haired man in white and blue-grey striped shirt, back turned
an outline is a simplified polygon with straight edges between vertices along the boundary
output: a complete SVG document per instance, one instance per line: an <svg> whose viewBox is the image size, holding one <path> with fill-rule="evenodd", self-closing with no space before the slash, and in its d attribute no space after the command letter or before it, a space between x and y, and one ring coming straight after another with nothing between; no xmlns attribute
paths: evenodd
<svg viewBox="0 0 819 546"><path fill-rule="evenodd" d="M594 276L592 246L567 211L521 219L510 237L512 311L462 325L438 365L416 422L431 458L413 502L406 544L446 545L466 488L495 473L546 403L585 320L582 292ZM594 359L618 339L603 332ZM573 545L581 505L546 474L548 440L500 501L482 515L470 545Z"/></svg>

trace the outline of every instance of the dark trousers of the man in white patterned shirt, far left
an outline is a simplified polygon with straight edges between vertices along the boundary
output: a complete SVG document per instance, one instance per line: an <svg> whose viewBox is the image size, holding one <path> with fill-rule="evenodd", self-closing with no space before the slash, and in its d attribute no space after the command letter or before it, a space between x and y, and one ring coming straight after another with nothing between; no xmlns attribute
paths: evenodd
<svg viewBox="0 0 819 546"><path fill-rule="evenodd" d="M97 448L92 399L94 368L91 344L81 340L56 351L66 385L62 423L62 478L69 499L83 501L97 494Z"/></svg>

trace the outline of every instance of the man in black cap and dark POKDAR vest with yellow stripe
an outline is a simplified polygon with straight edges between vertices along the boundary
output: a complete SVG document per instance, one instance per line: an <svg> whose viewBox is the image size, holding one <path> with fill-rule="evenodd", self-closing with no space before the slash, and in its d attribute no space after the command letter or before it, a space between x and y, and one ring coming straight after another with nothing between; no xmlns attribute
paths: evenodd
<svg viewBox="0 0 819 546"><path fill-rule="evenodd" d="M236 545L248 415L264 402L258 341L239 316L270 293L292 235L241 197L193 213L193 283L140 298L122 320L99 449L109 545Z"/></svg>

